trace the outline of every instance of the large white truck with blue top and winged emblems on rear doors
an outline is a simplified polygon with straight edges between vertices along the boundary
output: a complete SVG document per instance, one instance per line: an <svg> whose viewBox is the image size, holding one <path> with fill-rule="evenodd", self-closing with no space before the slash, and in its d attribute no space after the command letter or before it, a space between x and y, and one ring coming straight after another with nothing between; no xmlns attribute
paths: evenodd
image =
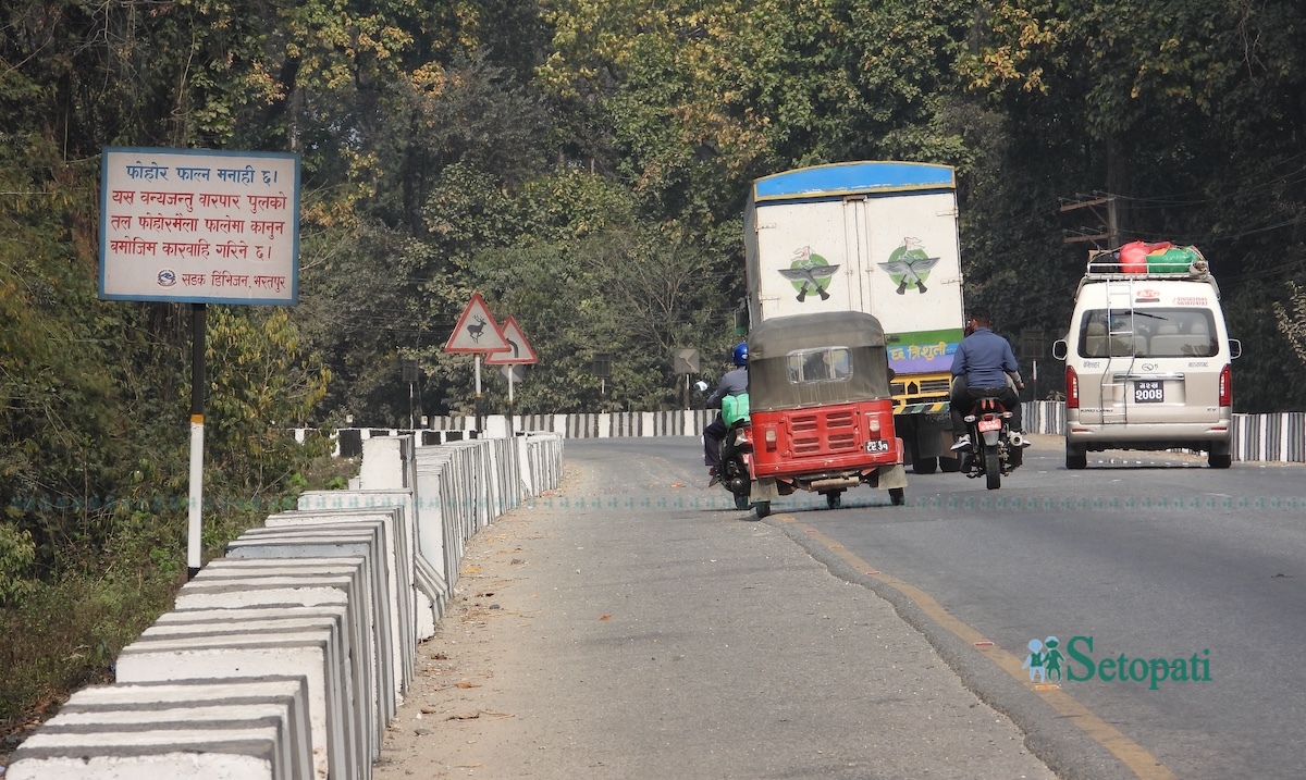
<svg viewBox="0 0 1306 780"><path fill-rule="evenodd" d="M917 473L956 471L948 397L965 326L952 167L853 162L752 183L744 210L748 320L874 314L895 372L895 428Z"/></svg>

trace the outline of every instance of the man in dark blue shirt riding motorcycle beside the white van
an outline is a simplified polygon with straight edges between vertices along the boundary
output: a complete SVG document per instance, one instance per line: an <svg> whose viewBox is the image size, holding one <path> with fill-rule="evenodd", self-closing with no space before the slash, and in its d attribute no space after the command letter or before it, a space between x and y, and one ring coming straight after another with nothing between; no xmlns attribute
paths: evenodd
<svg viewBox="0 0 1306 780"><path fill-rule="evenodd" d="M966 320L968 335L957 346L952 356L952 436L957 443L953 450L970 446L965 416L980 398L996 398L1011 412L1011 432L1020 433L1021 410L1016 390L1024 390L1020 380L1020 364L1011 351L1011 343L995 334L990 325L991 317L986 309L972 309ZM1007 382L1007 377L1015 387ZM1021 441L1021 447L1029 446L1029 440ZM1020 450L1015 453L1019 463Z"/></svg>

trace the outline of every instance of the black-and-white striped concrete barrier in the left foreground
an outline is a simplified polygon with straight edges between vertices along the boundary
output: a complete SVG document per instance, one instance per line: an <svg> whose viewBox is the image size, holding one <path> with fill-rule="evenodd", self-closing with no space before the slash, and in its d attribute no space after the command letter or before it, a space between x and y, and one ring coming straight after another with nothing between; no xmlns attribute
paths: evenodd
<svg viewBox="0 0 1306 780"><path fill-rule="evenodd" d="M360 442L347 490L269 515L0 768L5 780L367 780L468 540L556 488L563 437Z"/></svg>

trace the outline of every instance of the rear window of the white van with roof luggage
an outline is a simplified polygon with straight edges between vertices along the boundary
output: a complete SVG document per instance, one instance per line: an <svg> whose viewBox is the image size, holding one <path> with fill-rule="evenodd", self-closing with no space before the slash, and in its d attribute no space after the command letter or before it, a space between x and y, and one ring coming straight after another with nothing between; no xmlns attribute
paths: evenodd
<svg viewBox="0 0 1306 780"><path fill-rule="evenodd" d="M1080 357L1211 357L1215 314L1204 308L1088 309L1079 322Z"/></svg>

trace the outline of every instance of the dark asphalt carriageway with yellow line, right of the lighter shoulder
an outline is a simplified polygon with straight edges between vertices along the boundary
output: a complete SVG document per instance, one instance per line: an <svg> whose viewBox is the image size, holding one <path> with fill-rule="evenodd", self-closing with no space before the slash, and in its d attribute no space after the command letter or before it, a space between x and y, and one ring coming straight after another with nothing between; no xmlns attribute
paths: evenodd
<svg viewBox="0 0 1306 780"><path fill-rule="evenodd" d="M607 463L614 480L646 458L700 473L692 438L575 440L565 451ZM1037 437L1000 490L909 473L906 506L868 488L838 510L799 493L764 522L836 574L865 577L968 687L1034 733L1050 766L1074 766L1088 740L1134 757L1141 777L1302 777L1306 470L1124 455L1067 471L1060 440ZM1020 678L1027 646L1049 637L1080 680ZM1121 656L1127 681L1111 668Z"/></svg>

